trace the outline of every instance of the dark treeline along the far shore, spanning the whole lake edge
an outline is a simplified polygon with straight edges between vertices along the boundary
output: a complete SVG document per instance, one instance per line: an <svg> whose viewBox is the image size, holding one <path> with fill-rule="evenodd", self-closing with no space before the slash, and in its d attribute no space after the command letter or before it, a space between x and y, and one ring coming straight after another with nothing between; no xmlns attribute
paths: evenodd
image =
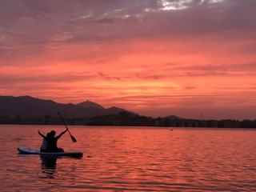
<svg viewBox="0 0 256 192"><path fill-rule="evenodd" d="M199 120L178 118L150 118L128 112L107 114L92 118L65 118L68 125L80 126L159 126L159 127L216 127L216 128L256 128L256 120ZM60 118L44 115L38 118L22 118L18 114L15 118L0 116L0 124L17 125L62 125Z"/></svg>

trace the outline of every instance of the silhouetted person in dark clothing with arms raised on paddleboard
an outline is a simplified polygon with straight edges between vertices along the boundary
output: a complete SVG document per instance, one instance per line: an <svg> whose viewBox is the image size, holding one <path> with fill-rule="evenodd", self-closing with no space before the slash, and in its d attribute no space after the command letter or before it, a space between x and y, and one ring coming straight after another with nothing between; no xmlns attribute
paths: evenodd
<svg viewBox="0 0 256 192"><path fill-rule="evenodd" d="M57 142L58 139L62 137L63 134L66 133L68 129L64 130L61 134L58 134L58 136L55 137L56 131L52 130L50 131L49 137L47 138L43 134L40 133L40 130L38 130L38 134L42 136L42 138L45 138L48 142L46 152L64 152L62 148L58 148Z"/></svg>

